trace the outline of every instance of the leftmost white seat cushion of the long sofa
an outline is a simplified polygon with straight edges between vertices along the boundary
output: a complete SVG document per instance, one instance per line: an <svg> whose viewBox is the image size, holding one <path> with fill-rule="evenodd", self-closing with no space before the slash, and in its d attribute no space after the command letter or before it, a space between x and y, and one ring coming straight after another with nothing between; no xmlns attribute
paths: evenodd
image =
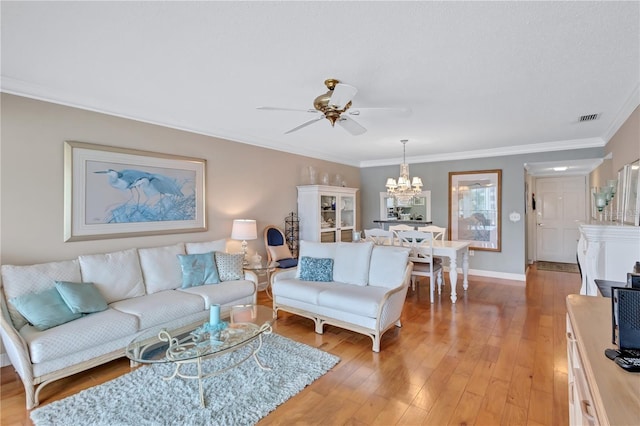
<svg viewBox="0 0 640 426"><path fill-rule="evenodd" d="M31 361L37 364L127 336L132 340L137 331L136 317L106 309L45 331L25 325L20 329L20 335L29 346Z"/></svg>

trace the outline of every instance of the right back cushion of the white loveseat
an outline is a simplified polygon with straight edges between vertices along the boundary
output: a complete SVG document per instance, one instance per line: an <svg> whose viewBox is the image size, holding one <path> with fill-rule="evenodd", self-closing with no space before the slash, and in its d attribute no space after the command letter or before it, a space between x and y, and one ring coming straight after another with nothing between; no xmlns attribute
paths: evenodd
<svg viewBox="0 0 640 426"><path fill-rule="evenodd" d="M409 249L375 246L371 251L369 285L394 288L402 283L409 262Z"/></svg>

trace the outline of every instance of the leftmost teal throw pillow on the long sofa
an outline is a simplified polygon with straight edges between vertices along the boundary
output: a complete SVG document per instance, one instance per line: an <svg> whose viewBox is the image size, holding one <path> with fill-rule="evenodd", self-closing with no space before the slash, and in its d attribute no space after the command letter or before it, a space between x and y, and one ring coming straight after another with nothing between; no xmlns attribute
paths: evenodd
<svg viewBox="0 0 640 426"><path fill-rule="evenodd" d="M9 302L36 329L44 331L56 325L64 324L80 318L82 314L74 314L64 303L55 287L40 293L24 294L14 297Z"/></svg>

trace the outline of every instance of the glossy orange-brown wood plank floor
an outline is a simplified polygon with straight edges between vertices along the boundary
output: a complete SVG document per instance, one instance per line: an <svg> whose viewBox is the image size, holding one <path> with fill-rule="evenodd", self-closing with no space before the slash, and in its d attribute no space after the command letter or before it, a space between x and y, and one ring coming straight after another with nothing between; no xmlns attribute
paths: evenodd
<svg viewBox="0 0 640 426"><path fill-rule="evenodd" d="M277 333L341 361L260 425L566 425L565 298L579 287L579 274L534 266L526 286L471 277L455 305L446 291L430 305L423 281L380 353L368 337L332 326L317 335L311 320L281 313ZM270 304L264 292L259 301ZM54 382L41 404L128 371L120 359ZM31 425L22 382L11 367L0 373L0 423Z"/></svg>

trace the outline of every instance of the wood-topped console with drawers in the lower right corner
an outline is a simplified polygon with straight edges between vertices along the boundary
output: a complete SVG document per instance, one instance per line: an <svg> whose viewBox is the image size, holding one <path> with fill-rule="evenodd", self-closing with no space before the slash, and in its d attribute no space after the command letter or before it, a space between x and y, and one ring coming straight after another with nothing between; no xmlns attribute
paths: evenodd
<svg viewBox="0 0 640 426"><path fill-rule="evenodd" d="M567 297L569 424L635 425L640 419L640 374L604 355L611 342L611 299Z"/></svg>

